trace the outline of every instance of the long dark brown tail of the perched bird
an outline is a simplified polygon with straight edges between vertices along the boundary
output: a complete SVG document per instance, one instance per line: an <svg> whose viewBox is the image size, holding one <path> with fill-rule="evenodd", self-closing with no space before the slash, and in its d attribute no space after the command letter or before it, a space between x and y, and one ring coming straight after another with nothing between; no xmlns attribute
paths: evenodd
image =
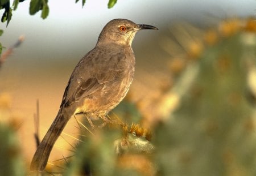
<svg viewBox="0 0 256 176"><path fill-rule="evenodd" d="M47 131L43 140L36 149L34 157L31 161L30 170L43 171L44 168L46 168L46 164L49 158L49 154L52 151L52 147L55 144L56 140L59 138L61 132L63 131L64 127L66 126L71 117L66 117L66 115L69 114L63 113L61 109L59 110L59 113L52 122L51 127L49 127L49 130Z"/></svg>

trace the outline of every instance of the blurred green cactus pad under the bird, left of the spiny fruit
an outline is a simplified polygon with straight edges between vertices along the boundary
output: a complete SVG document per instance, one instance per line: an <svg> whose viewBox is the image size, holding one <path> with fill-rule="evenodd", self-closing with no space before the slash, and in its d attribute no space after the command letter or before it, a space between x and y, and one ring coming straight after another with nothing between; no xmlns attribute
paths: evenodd
<svg viewBox="0 0 256 176"><path fill-rule="evenodd" d="M113 141L118 138L113 131L97 131L77 146L76 156L69 162L64 175L113 175L115 153Z"/></svg>

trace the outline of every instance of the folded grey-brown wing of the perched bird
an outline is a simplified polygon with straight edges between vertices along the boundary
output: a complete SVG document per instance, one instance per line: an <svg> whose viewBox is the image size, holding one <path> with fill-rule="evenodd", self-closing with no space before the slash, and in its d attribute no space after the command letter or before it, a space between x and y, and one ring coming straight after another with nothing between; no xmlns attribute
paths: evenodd
<svg viewBox="0 0 256 176"><path fill-rule="evenodd" d="M73 71L65 89L61 106L72 105L79 102L81 98L89 97L94 92L100 91L106 83L114 80L116 75L120 73L120 70L114 65L106 67L102 63L92 63L86 57L93 57L93 55L86 55Z"/></svg>

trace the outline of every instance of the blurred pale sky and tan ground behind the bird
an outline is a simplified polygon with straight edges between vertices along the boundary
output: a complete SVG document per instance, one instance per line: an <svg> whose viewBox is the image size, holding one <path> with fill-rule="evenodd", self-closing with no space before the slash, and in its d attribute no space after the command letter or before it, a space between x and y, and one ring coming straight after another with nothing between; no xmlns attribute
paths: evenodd
<svg viewBox="0 0 256 176"><path fill-rule="evenodd" d="M149 111L147 108L154 107L152 101L175 85L175 74L170 69L177 69L179 72L180 67L183 67L181 55L179 62L171 62L177 58L175 52L179 50L173 42L179 43L180 40L176 38L168 41L168 38L181 35L182 42L185 43L191 36L202 37L202 31L208 28L220 27L224 19L238 18L242 23L248 16L255 18L256 13L254 0L131 0L118 1L111 9L107 7L108 2L102 0L88 0L83 8L81 2L56 0L48 2L49 16L43 20L40 12L33 16L28 14L29 3L28 0L19 3L7 28L5 23L0 24L0 28L4 30L0 41L6 48L13 45L19 36L25 37L22 45L14 50L0 70L0 105L5 107L1 109L0 117L1 121L18 119L18 134L28 163L35 152L33 134L36 100L40 104L42 138L59 110L65 85L73 68L94 47L101 29L110 20L125 18L159 28L159 31L139 32L135 37L133 50L137 59L136 74L127 95L127 100L141 107L142 117L148 117L144 121L150 123L153 121L150 118L154 117L154 110ZM2 14L3 11L0 12ZM175 24L181 23L184 24L183 28L173 29ZM183 29L186 32L181 33ZM167 45L171 46L170 50L166 48ZM197 54L196 51L194 54ZM166 103L175 104L174 101L171 99ZM145 126L151 126L147 122L143 122ZM74 131L75 124L71 120L65 133L77 135ZM61 154L68 152L63 148L68 147L69 144L60 139L50 160L61 158Z"/></svg>

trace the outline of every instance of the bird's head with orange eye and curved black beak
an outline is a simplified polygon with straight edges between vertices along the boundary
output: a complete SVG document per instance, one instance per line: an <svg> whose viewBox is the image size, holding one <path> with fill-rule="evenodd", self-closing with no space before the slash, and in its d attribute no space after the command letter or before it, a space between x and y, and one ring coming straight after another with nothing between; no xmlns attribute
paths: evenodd
<svg viewBox="0 0 256 176"><path fill-rule="evenodd" d="M135 33L141 29L158 28L147 24L136 24L127 19L114 19L105 25L98 37L98 44L115 42L119 45L131 45Z"/></svg>

